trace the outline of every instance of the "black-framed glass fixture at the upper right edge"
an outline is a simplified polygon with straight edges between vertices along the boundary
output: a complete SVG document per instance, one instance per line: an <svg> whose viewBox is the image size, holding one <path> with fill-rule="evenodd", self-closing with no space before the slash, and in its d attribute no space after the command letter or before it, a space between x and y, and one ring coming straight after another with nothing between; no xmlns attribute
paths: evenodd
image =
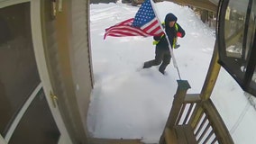
<svg viewBox="0 0 256 144"><path fill-rule="evenodd" d="M256 95L255 12L253 0L223 0L218 23L219 63L242 86ZM254 89L254 93L252 93Z"/></svg>

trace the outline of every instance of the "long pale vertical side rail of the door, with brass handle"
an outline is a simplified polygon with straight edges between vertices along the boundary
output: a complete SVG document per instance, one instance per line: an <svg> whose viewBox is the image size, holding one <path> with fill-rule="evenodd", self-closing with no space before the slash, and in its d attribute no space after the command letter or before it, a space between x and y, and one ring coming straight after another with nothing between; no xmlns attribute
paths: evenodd
<svg viewBox="0 0 256 144"><path fill-rule="evenodd" d="M41 0L31 0L31 22L32 22L32 41L35 53L35 58L39 70L39 75L41 77L41 83L46 95L47 102L50 106L50 111L53 115L54 120L60 131L59 143L72 143L69 138L68 130L62 120L59 112L58 104L54 107L52 99L50 98L50 92L52 92L52 86L50 84L50 76L48 73L48 68L46 64L46 57L44 54L42 31L41 31Z"/></svg>

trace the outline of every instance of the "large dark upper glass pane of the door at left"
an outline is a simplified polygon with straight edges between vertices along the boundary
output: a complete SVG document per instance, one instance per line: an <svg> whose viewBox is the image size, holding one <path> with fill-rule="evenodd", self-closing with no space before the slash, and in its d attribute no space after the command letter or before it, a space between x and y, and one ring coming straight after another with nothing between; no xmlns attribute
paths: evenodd
<svg viewBox="0 0 256 144"><path fill-rule="evenodd" d="M1 8L0 31L0 133L5 136L41 83L32 46L30 3Z"/></svg>

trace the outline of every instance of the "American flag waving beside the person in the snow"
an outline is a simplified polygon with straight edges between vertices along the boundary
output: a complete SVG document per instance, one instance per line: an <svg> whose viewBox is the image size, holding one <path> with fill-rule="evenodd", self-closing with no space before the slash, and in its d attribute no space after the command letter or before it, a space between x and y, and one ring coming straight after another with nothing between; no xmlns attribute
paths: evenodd
<svg viewBox="0 0 256 144"><path fill-rule="evenodd" d="M154 14L151 0L145 0L141 5L135 18L131 18L117 23L105 29L105 36L125 37L125 36L155 36L161 35L164 32L161 30L158 18Z"/></svg>

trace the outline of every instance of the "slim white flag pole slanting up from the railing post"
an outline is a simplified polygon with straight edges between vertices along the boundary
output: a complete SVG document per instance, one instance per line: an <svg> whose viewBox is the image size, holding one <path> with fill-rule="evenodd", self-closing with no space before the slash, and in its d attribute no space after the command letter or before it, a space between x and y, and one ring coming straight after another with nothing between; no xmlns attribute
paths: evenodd
<svg viewBox="0 0 256 144"><path fill-rule="evenodd" d="M152 0L150 0L150 1L151 1L151 5L152 5L152 9L153 9L153 11L154 11L154 14L156 15L156 18L158 19L158 22L159 22L159 24L160 24L160 28L161 28L161 30L164 32L164 34L166 35L165 38L166 38L167 41L168 41L169 53L170 53L170 56L171 56L172 61L173 61L173 66L177 68L178 77L179 77L179 79L181 80L181 76L180 76L180 73L179 73L179 70L178 70L178 64L177 64L176 58L174 57L173 50L172 50L171 47L170 47L170 42L169 42L169 39L168 39L168 35L167 35L166 32L164 31L164 29L163 29L163 27L162 27L162 25L161 25L161 23L160 23L160 19L159 19L158 15L157 15L156 10L155 10L154 5L153 5L154 2L153 2Z"/></svg>

